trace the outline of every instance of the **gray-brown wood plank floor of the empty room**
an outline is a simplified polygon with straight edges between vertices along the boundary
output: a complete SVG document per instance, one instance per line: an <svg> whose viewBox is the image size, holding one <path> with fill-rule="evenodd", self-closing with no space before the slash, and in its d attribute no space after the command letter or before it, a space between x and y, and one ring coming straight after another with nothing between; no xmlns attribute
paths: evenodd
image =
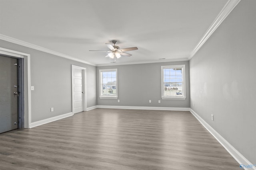
<svg viewBox="0 0 256 170"><path fill-rule="evenodd" d="M189 111L93 109L0 134L0 170L239 170Z"/></svg>

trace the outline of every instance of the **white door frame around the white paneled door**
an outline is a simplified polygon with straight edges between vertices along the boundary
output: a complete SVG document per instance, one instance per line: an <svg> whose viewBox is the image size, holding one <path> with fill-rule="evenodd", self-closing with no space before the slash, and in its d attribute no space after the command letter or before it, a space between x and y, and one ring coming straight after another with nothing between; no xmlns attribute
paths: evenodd
<svg viewBox="0 0 256 170"><path fill-rule="evenodd" d="M82 70L82 78L83 78L83 82L82 82L82 86L83 86L83 89L82 91L84 91L83 93L83 111L87 111L87 90L86 90L86 68L85 67L81 67L81 66L76 66L76 65L73 65L72 64L72 69L71 69L71 82L72 82L72 113L74 114L74 81L73 81L73 72L74 72L74 69L77 68L77 69L81 69Z"/></svg>

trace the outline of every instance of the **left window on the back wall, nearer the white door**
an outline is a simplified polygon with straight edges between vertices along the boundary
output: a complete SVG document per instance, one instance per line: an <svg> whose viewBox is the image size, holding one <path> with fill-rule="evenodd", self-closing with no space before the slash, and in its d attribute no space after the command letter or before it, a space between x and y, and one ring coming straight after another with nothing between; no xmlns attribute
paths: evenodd
<svg viewBox="0 0 256 170"><path fill-rule="evenodd" d="M100 71L100 98L117 98L117 69Z"/></svg>

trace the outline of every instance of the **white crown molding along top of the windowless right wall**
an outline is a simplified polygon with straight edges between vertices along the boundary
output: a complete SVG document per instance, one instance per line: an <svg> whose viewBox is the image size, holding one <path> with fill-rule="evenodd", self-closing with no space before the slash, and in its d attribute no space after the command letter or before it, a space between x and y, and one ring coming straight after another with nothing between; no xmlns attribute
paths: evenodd
<svg viewBox="0 0 256 170"><path fill-rule="evenodd" d="M228 0L226 5L222 8L218 16L213 21L212 25L208 28L202 39L199 41L199 43L196 45L196 47L193 49L193 51L190 53L190 56L188 60L190 60L196 52L204 45L204 43L207 41L207 39L214 33L214 31L220 26L222 21L225 20L225 18L230 14L230 12L236 7L236 5L240 2L240 0Z"/></svg>

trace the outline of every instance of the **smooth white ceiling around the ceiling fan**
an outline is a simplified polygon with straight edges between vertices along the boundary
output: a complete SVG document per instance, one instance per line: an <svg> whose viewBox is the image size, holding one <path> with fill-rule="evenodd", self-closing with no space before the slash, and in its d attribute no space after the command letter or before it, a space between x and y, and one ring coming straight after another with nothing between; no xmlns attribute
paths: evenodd
<svg viewBox="0 0 256 170"><path fill-rule="evenodd" d="M0 0L0 34L94 65L188 60L228 0ZM165 58L164 60L159 60ZM113 64L113 63L112 63Z"/></svg>

